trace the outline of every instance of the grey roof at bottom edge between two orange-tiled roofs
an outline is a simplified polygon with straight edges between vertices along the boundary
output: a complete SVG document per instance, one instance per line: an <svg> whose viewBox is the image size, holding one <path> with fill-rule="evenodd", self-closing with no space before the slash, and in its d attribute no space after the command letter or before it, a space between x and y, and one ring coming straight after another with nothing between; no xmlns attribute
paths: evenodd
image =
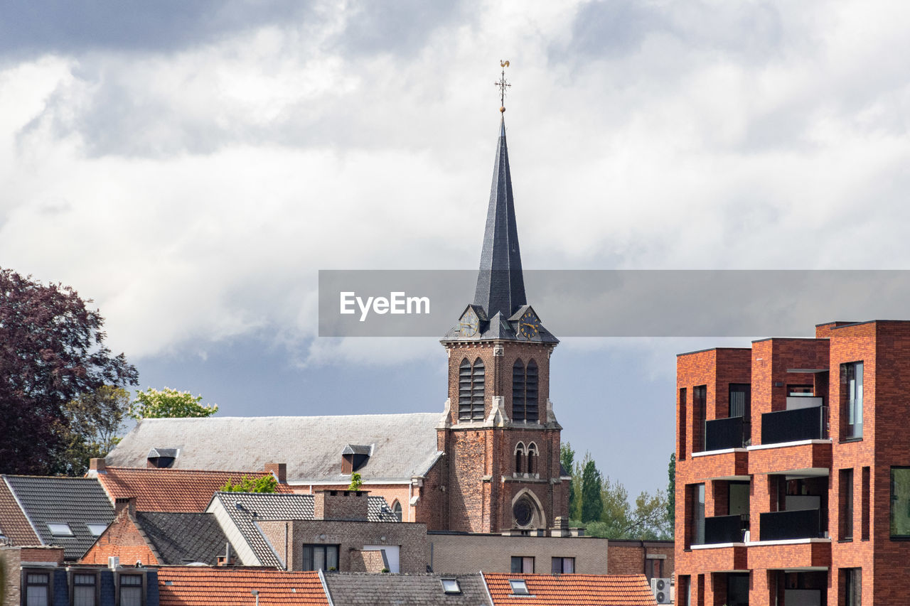
<svg viewBox="0 0 910 606"><path fill-rule="evenodd" d="M490 604L479 573L472 574L368 574L328 572L329 595L345 606L444 606ZM457 579L460 593L442 591L441 579Z"/></svg>

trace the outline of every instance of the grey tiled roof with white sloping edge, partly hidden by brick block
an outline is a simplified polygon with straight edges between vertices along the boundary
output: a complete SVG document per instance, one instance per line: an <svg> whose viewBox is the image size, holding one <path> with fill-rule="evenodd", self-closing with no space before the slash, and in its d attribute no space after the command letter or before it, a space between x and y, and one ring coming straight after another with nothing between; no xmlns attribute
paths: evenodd
<svg viewBox="0 0 910 606"><path fill-rule="evenodd" d="M382 497L368 497L367 520L398 522ZM263 566L281 566L275 551L259 532L259 520L314 520L313 495L216 492L212 501L221 501L227 515L249 543ZM239 507L238 507L239 506ZM211 510L211 505L209 505Z"/></svg>

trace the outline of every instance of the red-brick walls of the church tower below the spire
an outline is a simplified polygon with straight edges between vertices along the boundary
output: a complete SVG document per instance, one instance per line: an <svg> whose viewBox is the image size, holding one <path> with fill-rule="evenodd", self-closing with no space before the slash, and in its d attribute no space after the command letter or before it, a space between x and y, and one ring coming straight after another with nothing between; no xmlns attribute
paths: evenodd
<svg viewBox="0 0 910 606"><path fill-rule="evenodd" d="M510 340L450 341L445 346L450 416L438 435L439 449L445 455L437 467L440 480L445 479L440 485L446 487L438 493L440 528L469 532L519 528L512 508L520 499L531 502L532 509L531 523L521 528L552 528L553 520L567 516L569 510L569 482L561 480L561 427L549 419L553 346ZM465 359L470 363L480 359L485 368L482 421L459 419L459 370ZM512 367L516 360L524 364L533 360L539 369L536 422L513 421ZM430 520L427 523L435 530Z"/></svg>

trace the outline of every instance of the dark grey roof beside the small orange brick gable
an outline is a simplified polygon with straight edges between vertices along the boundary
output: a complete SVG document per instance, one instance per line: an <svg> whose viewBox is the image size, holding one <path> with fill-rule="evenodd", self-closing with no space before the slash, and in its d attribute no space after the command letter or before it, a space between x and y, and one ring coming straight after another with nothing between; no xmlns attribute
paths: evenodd
<svg viewBox="0 0 910 606"><path fill-rule="evenodd" d="M201 561L214 566L225 554L227 537L211 513L137 511L136 523L161 556L160 564Z"/></svg>

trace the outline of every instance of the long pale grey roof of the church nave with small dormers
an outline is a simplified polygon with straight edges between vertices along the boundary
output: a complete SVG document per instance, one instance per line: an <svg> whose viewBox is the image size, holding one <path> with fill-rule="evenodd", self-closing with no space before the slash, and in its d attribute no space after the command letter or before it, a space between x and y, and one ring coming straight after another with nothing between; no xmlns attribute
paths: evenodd
<svg viewBox="0 0 910 606"><path fill-rule="evenodd" d="M371 445L363 480L410 481L437 459L440 413L331 417L143 419L107 455L109 466L146 467L151 449L180 449L173 469L261 470L287 463L288 481L338 481L345 447Z"/></svg>

